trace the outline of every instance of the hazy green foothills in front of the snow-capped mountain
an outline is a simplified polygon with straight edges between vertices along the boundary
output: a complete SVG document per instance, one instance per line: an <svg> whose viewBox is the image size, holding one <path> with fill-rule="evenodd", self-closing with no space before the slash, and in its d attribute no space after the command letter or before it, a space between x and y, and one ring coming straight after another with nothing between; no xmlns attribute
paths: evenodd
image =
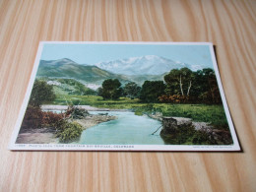
<svg viewBox="0 0 256 192"><path fill-rule="evenodd" d="M70 59L45 61L40 60L37 70L37 78L75 79L83 84L101 85L106 79L118 79L123 85L135 82L142 86L148 81L163 80L162 75L134 75L125 76L113 74L93 65L81 65Z"/></svg>

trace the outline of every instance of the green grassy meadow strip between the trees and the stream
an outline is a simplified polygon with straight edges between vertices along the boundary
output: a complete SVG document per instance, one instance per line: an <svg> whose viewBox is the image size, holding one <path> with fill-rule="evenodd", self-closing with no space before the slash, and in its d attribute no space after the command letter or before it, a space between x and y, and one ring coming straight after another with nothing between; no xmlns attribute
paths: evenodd
<svg viewBox="0 0 256 192"><path fill-rule="evenodd" d="M219 104L172 104L143 103L140 99L120 97L117 100L105 100L101 96L57 95L49 104L79 104L111 109L131 109L135 114L161 112L163 116L188 117L194 121L209 122L218 129L228 129L223 105Z"/></svg>

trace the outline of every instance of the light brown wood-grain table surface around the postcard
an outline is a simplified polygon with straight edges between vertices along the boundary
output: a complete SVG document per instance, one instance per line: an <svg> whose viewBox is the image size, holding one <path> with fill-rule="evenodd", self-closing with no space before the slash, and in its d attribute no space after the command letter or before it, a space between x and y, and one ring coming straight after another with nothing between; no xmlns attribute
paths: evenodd
<svg viewBox="0 0 256 192"><path fill-rule="evenodd" d="M256 1L0 0L0 191L256 191ZM242 153L10 152L40 40L212 41Z"/></svg>

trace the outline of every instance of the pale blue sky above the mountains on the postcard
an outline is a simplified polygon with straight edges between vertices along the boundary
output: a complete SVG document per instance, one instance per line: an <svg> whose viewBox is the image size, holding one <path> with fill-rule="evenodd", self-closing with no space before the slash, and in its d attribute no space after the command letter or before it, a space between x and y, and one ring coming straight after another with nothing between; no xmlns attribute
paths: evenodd
<svg viewBox="0 0 256 192"><path fill-rule="evenodd" d="M208 45L184 44L81 44L45 43L42 60L69 58L79 64L96 64L144 55L158 55L173 61L213 68Z"/></svg>

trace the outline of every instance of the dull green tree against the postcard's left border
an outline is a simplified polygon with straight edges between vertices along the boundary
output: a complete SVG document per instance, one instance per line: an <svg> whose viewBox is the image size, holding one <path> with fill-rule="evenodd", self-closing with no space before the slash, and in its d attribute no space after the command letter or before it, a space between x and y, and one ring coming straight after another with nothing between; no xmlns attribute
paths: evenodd
<svg viewBox="0 0 256 192"><path fill-rule="evenodd" d="M55 98L53 87L47 85L44 81L35 80L32 87L32 95L29 104L39 107L45 101L51 101Z"/></svg>

